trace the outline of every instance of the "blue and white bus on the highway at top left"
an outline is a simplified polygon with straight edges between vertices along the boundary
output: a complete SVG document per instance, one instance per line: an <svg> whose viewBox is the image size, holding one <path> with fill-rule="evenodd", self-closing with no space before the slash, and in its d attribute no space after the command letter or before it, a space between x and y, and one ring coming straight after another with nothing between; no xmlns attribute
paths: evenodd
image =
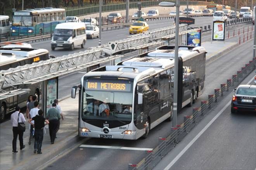
<svg viewBox="0 0 256 170"><path fill-rule="evenodd" d="M65 9L35 8L12 12L11 36L29 36L54 31L60 22L66 19Z"/></svg>

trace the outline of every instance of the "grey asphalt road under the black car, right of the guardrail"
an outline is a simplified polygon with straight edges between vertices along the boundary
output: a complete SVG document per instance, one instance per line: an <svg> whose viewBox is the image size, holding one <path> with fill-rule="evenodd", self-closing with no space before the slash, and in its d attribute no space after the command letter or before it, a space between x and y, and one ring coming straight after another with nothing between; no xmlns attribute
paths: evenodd
<svg viewBox="0 0 256 170"><path fill-rule="evenodd" d="M255 73L252 72L242 84L251 82L250 84L253 85L254 76ZM179 144L183 145L179 148L182 151L170 152L154 169L255 170L256 114L255 112L244 111L237 114L230 113L231 98L232 93L223 100L223 105L220 105L219 108L223 109L222 112L219 112L218 108L213 111L214 117L215 115L220 116L210 124L208 129L203 131L199 138L190 140L190 136L186 136L184 142ZM207 119L204 119L198 126L208 122ZM190 133L193 138L197 135L197 130L193 129ZM186 140L194 143L192 145L187 144ZM189 148L186 150L187 147ZM175 159L173 159L174 157Z"/></svg>

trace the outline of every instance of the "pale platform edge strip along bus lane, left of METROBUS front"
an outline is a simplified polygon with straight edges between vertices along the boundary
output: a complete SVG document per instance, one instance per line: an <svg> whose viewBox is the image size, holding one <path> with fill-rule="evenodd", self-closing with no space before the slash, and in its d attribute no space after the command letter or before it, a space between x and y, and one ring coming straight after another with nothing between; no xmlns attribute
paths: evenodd
<svg viewBox="0 0 256 170"><path fill-rule="evenodd" d="M80 139L80 137L77 134L77 130L73 131L68 136L64 137L64 140L59 141L58 143L55 143L55 145L50 145L47 148L44 148L44 153L42 155L33 155L33 150L31 150L31 156L28 157L27 160L22 161L15 165L14 167L11 167L10 169L37 169L42 167L42 161L43 165L45 163L50 162L50 160L54 159L55 157L59 156L60 153L65 151L66 149L74 146L74 144L83 143L86 140ZM50 150L50 151L49 151ZM48 152L47 152L48 151Z"/></svg>

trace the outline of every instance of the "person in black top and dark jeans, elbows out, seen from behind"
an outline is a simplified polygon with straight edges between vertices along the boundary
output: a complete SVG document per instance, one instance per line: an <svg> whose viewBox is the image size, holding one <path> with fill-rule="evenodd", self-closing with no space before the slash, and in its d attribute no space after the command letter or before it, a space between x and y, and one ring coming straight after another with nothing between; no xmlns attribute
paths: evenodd
<svg viewBox="0 0 256 170"><path fill-rule="evenodd" d="M38 114L28 122L35 128L34 153L42 154L43 127L49 124L49 121L43 117L43 110L38 110Z"/></svg>

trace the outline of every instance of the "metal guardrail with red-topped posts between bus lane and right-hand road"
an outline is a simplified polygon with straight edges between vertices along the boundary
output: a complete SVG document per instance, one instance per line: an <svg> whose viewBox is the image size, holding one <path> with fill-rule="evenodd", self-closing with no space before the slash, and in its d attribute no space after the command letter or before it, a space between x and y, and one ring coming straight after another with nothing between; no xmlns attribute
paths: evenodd
<svg viewBox="0 0 256 170"><path fill-rule="evenodd" d="M213 106L221 100L225 92L229 92L231 87L236 87L243 77L246 77L256 68L256 58L249 61L232 79L227 79L227 83L220 84L220 88L214 88L214 93L208 95L208 100L201 101L201 107L193 108L192 115L184 116L183 123L173 127L171 134L167 138L159 138L159 145L153 150L146 151L147 156L137 164L128 164L128 170L151 170L161 159L170 152L175 146L200 122Z"/></svg>

